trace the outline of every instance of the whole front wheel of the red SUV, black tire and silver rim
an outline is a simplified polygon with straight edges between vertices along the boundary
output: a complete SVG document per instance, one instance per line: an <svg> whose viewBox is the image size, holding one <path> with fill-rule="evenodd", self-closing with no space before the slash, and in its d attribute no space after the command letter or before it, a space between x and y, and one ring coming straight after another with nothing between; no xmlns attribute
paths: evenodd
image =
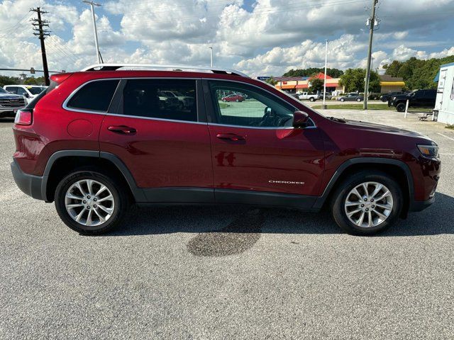
<svg viewBox="0 0 454 340"><path fill-rule="evenodd" d="M396 180L380 171L360 171L334 193L333 217L349 234L377 234L399 218L402 200Z"/></svg>

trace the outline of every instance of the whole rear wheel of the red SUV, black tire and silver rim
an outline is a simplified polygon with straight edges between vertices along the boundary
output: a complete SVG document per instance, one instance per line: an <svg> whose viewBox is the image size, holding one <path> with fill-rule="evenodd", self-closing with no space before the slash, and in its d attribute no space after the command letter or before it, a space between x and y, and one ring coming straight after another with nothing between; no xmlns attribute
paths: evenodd
<svg viewBox="0 0 454 340"><path fill-rule="evenodd" d="M71 229L81 234L103 234L121 223L128 196L123 186L104 174L77 171L58 184L55 208Z"/></svg>

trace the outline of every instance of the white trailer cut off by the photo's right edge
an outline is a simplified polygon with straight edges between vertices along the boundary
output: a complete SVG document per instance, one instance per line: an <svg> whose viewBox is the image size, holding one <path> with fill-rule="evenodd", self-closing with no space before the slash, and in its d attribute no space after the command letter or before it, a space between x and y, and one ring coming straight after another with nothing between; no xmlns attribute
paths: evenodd
<svg viewBox="0 0 454 340"><path fill-rule="evenodd" d="M454 62L441 65L434 79L438 81L437 98L433 109L438 122L454 124Z"/></svg>

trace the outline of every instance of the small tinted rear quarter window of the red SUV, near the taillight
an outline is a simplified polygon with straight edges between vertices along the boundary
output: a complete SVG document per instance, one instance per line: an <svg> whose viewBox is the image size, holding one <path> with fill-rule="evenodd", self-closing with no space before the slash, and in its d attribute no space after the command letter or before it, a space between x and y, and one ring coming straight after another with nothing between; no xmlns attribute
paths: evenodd
<svg viewBox="0 0 454 340"><path fill-rule="evenodd" d="M71 97L67 107L82 111L107 112L117 86L118 79L89 82Z"/></svg>

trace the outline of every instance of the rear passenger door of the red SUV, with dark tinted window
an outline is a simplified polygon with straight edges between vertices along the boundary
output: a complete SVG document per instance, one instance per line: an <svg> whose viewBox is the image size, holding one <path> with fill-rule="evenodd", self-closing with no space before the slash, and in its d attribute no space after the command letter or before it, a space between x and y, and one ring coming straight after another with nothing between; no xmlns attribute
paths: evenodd
<svg viewBox="0 0 454 340"><path fill-rule="evenodd" d="M214 200L211 146L196 79L128 79L101 127L101 152L126 164L150 202ZM165 105L163 92L194 98L187 108ZM117 98L116 98L117 99Z"/></svg>

